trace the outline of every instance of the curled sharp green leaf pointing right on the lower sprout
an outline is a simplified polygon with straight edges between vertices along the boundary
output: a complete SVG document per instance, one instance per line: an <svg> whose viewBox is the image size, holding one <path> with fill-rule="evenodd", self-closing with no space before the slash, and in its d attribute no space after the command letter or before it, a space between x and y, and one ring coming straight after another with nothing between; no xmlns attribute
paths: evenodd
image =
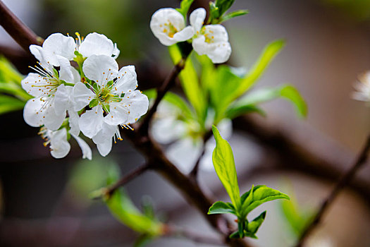
<svg viewBox="0 0 370 247"><path fill-rule="evenodd" d="M252 192L252 194L251 194ZM249 198L252 197L252 200ZM288 195L281 193L280 191L274 190L264 185L255 186L251 190L244 193L241 197L242 210L241 215L247 215L249 212L254 210L263 203L267 203L271 200L286 199L290 200Z"/></svg>

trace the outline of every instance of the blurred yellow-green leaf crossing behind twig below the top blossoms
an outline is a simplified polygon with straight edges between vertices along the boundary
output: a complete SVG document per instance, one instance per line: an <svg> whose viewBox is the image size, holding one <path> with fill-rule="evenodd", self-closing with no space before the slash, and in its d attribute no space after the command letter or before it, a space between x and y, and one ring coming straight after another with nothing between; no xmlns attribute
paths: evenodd
<svg viewBox="0 0 370 247"><path fill-rule="evenodd" d="M178 47L174 44L171 47L168 47L168 50L173 63L178 64L182 57ZM197 71L195 71L190 58L186 59L185 67L180 72L179 77L187 100L189 100L190 104L192 104L192 107L194 107L199 119L204 119L206 112L206 100L199 85Z"/></svg>

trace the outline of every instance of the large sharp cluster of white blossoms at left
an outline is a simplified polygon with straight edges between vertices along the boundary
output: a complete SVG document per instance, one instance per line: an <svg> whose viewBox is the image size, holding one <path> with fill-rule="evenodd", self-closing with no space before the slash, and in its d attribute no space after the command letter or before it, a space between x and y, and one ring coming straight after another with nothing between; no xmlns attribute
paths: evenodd
<svg viewBox="0 0 370 247"><path fill-rule="evenodd" d="M119 127L147 112L149 101L137 90L135 66L118 68L120 51L106 36L96 32L85 39L61 33L50 35L41 46L31 45L38 60L35 73L21 82L34 98L25 104L27 124L41 127L40 135L50 144L51 155L65 157L70 136L77 140L84 158L92 151L79 135L91 138L102 156L111 151L112 140L122 140ZM78 68L71 65L78 64Z"/></svg>

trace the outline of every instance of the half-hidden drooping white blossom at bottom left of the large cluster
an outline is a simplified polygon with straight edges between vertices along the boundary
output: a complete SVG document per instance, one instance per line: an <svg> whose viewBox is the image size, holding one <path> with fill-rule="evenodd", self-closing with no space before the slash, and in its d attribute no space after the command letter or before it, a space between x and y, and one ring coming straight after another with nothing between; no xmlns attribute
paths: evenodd
<svg viewBox="0 0 370 247"><path fill-rule="evenodd" d="M56 159L61 159L68 155L70 151L70 144L68 143L68 133L66 128L61 128L58 131L50 131L49 129L42 127L39 131L39 135L44 138L44 146L50 144L50 154ZM92 150L89 145L77 135L73 135L73 138L77 141L78 145L82 150L82 158L92 159Z"/></svg>

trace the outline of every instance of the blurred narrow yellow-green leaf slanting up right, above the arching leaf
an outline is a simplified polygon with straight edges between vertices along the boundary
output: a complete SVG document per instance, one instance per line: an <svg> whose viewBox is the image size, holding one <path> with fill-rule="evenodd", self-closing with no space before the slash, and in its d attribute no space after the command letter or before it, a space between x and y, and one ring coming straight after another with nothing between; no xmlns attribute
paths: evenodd
<svg viewBox="0 0 370 247"><path fill-rule="evenodd" d="M259 59L254 64L252 69L247 73L247 76L242 79L239 87L235 90L235 95L233 95L233 100L243 95L249 88L254 85L254 83L260 78L260 76L264 73L265 69L273 58L280 52L280 50L284 47L285 42L283 40L276 40L268 44L264 51L259 56ZM232 101L233 101L232 100Z"/></svg>

